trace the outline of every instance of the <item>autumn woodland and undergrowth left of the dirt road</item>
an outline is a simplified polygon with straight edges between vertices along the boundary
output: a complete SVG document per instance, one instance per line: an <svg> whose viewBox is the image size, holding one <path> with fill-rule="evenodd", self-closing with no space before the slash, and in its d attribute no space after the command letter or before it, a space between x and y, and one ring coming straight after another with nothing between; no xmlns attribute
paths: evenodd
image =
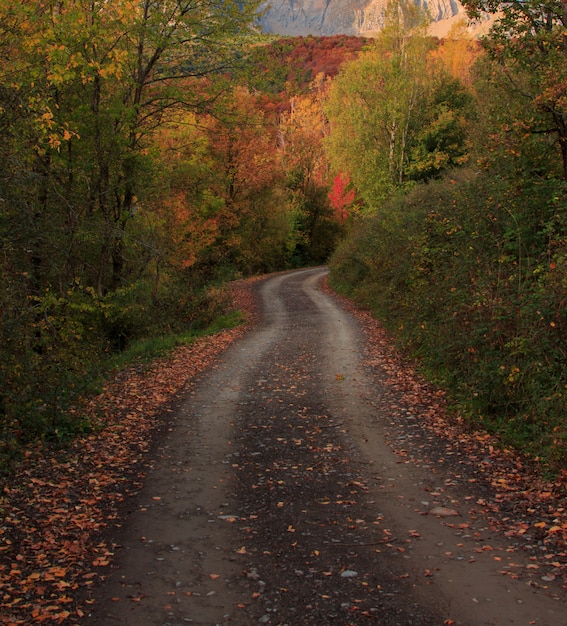
<svg viewBox="0 0 567 626"><path fill-rule="evenodd" d="M301 98L363 41L266 38L257 10L0 1L3 458L88 427L66 409L109 359L205 327L226 280L333 250Z"/></svg>

